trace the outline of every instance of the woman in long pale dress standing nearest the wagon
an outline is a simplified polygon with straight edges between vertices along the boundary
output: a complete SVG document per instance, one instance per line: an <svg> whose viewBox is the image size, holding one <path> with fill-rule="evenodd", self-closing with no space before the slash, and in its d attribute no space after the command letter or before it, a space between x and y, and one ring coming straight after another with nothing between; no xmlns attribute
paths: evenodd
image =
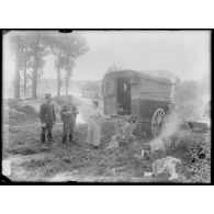
<svg viewBox="0 0 214 214"><path fill-rule="evenodd" d="M104 115L99 110L98 101L93 101L92 108L92 114L90 115L88 124L87 143L92 145L94 148L98 148L100 146L101 125L104 122Z"/></svg>

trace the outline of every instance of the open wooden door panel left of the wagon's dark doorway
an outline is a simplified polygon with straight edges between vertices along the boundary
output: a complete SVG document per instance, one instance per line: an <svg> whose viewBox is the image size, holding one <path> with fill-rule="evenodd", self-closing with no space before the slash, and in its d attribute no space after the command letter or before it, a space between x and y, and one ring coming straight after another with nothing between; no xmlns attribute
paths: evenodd
<svg viewBox="0 0 214 214"><path fill-rule="evenodd" d="M103 83L104 114L116 116L116 90L115 80L108 79Z"/></svg>

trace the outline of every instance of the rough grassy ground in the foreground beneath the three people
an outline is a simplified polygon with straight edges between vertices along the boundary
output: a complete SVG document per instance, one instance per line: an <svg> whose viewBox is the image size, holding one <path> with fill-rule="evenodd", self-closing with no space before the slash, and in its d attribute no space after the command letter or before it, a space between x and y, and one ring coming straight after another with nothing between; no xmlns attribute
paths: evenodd
<svg viewBox="0 0 214 214"><path fill-rule="evenodd" d="M135 154L140 154L146 139L106 149L115 133L110 122L102 126L101 148L93 149L85 142L87 124L77 124L75 143L63 145L63 124L57 122L53 129L54 143L44 146L40 140L40 120L27 117L24 123L19 123L18 119L24 115L20 114L15 120L13 116L14 112L10 112L3 125L3 159L11 161L12 173L9 178L12 181L169 182L167 174L149 179L144 177L145 171L151 171L153 161L161 157L161 154L148 160L135 157ZM170 155L185 159L182 151Z"/></svg>

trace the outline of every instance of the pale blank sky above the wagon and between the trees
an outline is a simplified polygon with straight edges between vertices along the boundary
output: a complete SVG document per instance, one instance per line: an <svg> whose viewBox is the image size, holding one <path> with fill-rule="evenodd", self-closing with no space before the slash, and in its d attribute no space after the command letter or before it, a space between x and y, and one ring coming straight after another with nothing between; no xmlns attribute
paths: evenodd
<svg viewBox="0 0 214 214"><path fill-rule="evenodd" d="M101 79L115 64L133 70L170 70L183 79L199 79L210 72L210 32L205 31L89 31L90 50L80 56L74 79ZM4 45L4 48L8 48ZM9 55L7 55L9 56ZM4 57L7 79L13 77ZM47 57L44 77L56 78L53 57Z"/></svg>

